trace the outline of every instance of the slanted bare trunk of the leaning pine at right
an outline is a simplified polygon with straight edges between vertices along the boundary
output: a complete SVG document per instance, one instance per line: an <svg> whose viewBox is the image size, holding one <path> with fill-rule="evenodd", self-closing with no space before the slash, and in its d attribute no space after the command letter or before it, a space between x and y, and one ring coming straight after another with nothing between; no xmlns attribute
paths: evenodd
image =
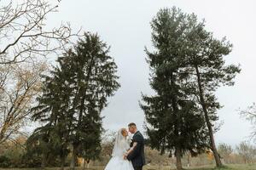
<svg viewBox="0 0 256 170"><path fill-rule="evenodd" d="M197 76L197 83L198 83L198 88L199 88L199 96L200 96L201 107L202 107L202 110L204 112L204 116L205 116L205 119L206 119L206 122L207 122L208 131L209 131L209 136L210 136L210 140L211 140L211 149L212 149L212 152L213 152L214 159L216 161L216 166L217 167L222 167L223 165L222 165L222 162L221 162L220 157L218 155L218 151L217 151L216 144L215 144L215 141L214 141L212 123L210 122L210 118L208 116L208 111L207 111L206 101L204 99L204 93L203 93L203 89L202 89L202 85L201 85L201 75L200 75L200 72L199 72L197 66L195 66L195 71L196 71L196 76Z"/></svg>

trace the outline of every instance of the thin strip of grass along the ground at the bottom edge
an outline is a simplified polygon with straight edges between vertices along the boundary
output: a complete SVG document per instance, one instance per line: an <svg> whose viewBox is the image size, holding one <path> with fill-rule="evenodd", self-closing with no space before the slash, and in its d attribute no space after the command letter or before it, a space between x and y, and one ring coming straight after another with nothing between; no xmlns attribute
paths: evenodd
<svg viewBox="0 0 256 170"><path fill-rule="evenodd" d="M0 168L0 170L36 170L38 168L9 168L9 169L3 169ZM51 168L46 168L46 170L58 170L59 168L51 167ZM68 170L68 168L66 168ZM78 170L82 170L83 168L78 167ZM104 167L91 167L90 169L87 170L103 170ZM227 167L224 168L214 168L213 166L204 166L204 167L190 167L190 168L184 168L188 170L256 170L256 164L255 165L228 165ZM114 170L114 169L113 169ZM146 166L143 168L143 170L174 170L171 167L154 167L154 166Z"/></svg>

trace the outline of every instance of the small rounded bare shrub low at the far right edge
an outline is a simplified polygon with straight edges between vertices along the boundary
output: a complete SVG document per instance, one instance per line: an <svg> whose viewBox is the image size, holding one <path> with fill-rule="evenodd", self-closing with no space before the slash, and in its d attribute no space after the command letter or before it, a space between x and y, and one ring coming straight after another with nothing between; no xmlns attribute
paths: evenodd
<svg viewBox="0 0 256 170"><path fill-rule="evenodd" d="M238 154L242 157L244 163L252 163L253 157L256 156L256 149L252 144L241 142L236 146Z"/></svg>

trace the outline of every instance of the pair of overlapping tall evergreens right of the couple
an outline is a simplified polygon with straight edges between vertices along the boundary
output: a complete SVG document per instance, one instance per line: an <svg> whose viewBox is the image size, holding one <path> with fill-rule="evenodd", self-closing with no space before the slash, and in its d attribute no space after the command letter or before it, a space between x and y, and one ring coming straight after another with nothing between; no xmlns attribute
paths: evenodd
<svg viewBox="0 0 256 170"><path fill-rule="evenodd" d="M232 45L214 38L195 14L177 8L161 9L151 26L156 50L146 53L155 95L143 95L142 105L150 144L162 151L180 147L192 155L209 147L221 167L213 138L221 105L214 93L221 84L233 85L240 72L224 61Z"/></svg>

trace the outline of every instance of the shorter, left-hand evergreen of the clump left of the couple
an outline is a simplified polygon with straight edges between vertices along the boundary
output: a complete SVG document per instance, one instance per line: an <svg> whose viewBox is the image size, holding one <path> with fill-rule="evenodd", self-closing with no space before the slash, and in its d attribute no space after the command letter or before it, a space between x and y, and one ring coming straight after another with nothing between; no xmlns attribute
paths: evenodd
<svg viewBox="0 0 256 170"><path fill-rule="evenodd" d="M45 124L38 127L26 142L29 151L42 156L43 167L50 156L66 157L69 153L71 113L68 112L67 103L71 90L63 86L65 79L58 68L51 74L52 77L44 77L43 94L38 97L38 106L32 109L34 120Z"/></svg>

